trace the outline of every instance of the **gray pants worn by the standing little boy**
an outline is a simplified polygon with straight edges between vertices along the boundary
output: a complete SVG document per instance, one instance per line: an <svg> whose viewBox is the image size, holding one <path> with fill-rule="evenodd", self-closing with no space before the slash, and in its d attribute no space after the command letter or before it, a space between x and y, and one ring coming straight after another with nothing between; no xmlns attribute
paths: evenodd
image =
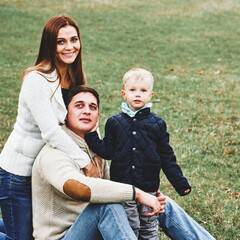
<svg viewBox="0 0 240 240"><path fill-rule="evenodd" d="M150 192L156 196L156 192ZM127 201L123 203L123 207L127 213L128 221L135 235L141 240L158 240L158 221L157 216L148 217L146 212L152 209L142 205L138 201Z"/></svg>

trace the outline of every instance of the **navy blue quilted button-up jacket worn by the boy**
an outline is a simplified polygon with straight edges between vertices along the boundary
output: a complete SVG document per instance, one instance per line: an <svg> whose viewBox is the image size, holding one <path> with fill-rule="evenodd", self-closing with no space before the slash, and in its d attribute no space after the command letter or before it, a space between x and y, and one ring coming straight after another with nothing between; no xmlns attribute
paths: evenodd
<svg viewBox="0 0 240 240"><path fill-rule="evenodd" d="M113 181L154 192L159 188L163 169L180 195L191 189L169 145L165 121L150 113L150 108L140 110L133 118L125 113L114 115L107 120L103 140L97 132L86 134L85 140L100 157L112 159L110 178Z"/></svg>

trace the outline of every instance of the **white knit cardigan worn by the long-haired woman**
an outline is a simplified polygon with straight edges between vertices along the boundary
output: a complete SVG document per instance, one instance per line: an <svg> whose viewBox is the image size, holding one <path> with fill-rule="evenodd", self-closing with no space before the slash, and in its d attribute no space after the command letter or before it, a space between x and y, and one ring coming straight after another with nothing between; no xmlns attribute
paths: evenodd
<svg viewBox="0 0 240 240"><path fill-rule="evenodd" d="M88 155L59 126L64 123L67 110L58 85L56 71L45 75L31 72L24 78L16 123L0 155L0 167L4 170L30 176L33 162L45 143L67 153L80 167L90 162Z"/></svg>

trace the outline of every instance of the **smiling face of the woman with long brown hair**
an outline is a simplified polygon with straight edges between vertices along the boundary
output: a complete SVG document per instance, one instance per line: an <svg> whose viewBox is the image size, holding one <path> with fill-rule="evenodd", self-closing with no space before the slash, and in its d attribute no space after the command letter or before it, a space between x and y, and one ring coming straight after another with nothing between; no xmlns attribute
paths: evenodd
<svg viewBox="0 0 240 240"><path fill-rule="evenodd" d="M58 64L71 64L75 61L80 51L80 40L76 29L67 25L58 31L56 58Z"/></svg>

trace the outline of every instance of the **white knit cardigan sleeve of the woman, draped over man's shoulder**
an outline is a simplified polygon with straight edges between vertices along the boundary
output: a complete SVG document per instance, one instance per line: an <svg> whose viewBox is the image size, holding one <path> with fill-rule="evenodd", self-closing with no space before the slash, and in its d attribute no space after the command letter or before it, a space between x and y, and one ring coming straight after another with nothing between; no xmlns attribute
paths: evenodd
<svg viewBox="0 0 240 240"><path fill-rule="evenodd" d="M89 164L88 155L60 127L51 103L52 92L43 76L34 72L28 74L23 81L21 97L45 143L69 154L81 168Z"/></svg>

